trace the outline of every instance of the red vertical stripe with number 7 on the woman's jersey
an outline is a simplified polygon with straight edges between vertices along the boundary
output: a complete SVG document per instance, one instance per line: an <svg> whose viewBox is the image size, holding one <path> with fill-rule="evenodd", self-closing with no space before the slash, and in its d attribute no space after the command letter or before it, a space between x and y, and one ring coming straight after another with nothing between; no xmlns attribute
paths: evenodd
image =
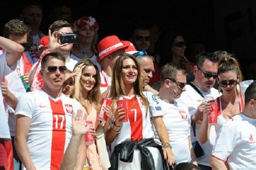
<svg viewBox="0 0 256 170"><path fill-rule="evenodd" d="M136 97L127 100L127 104L128 117L131 126L131 141L141 141L143 139L143 117L140 110L140 104Z"/></svg>

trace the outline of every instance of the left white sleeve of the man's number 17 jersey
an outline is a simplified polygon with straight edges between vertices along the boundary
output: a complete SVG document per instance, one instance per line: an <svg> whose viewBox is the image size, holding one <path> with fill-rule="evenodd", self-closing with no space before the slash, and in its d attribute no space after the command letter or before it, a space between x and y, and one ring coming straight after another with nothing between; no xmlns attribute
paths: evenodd
<svg viewBox="0 0 256 170"><path fill-rule="evenodd" d="M35 112L35 101L36 99L32 92L22 95L15 109L15 116L23 115L31 119L33 117L33 113Z"/></svg>

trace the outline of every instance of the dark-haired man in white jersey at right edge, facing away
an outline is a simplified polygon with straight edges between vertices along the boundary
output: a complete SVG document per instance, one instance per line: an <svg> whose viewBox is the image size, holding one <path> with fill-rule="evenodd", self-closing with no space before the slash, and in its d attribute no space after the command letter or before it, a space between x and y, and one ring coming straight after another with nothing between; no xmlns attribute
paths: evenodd
<svg viewBox="0 0 256 170"><path fill-rule="evenodd" d="M213 169L256 168L256 82L245 91L243 112L220 129L211 157ZM227 164L225 164L227 161Z"/></svg>

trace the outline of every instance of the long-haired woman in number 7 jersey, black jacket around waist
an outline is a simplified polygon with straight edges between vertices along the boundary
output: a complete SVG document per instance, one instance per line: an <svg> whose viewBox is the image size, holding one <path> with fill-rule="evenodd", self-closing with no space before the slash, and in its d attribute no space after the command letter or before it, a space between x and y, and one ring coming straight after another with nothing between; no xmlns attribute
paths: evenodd
<svg viewBox="0 0 256 170"><path fill-rule="evenodd" d="M110 169L163 169L162 147L153 139L149 106L138 70L138 62L130 54L121 55L114 66L109 98L115 105L115 118L106 134L112 151ZM120 121L125 111L116 106L119 99L127 101L127 122Z"/></svg>

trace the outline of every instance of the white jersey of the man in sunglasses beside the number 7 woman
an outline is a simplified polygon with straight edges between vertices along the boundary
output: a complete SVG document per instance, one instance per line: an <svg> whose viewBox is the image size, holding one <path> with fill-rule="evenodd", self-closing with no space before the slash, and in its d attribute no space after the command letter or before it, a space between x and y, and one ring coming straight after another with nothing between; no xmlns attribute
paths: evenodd
<svg viewBox="0 0 256 170"><path fill-rule="evenodd" d="M157 95L147 98L153 117L162 116L169 134L170 144L175 158L175 163L190 163L191 155L188 137L190 136L190 116L186 106L166 103ZM158 134L155 133L156 143L161 145Z"/></svg>

